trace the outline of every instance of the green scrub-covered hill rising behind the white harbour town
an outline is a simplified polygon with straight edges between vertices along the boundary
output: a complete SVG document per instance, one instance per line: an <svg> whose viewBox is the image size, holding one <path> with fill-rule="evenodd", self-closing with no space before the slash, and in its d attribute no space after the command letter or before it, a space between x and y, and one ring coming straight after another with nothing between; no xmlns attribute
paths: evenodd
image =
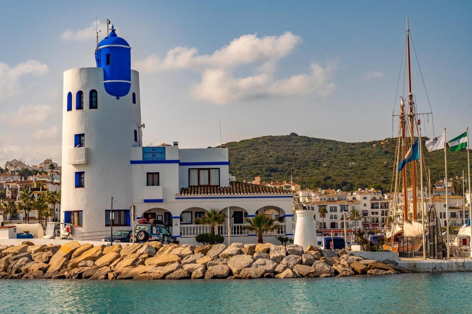
<svg viewBox="0 0 472 314"><path fill-rule="evenodd" d="M236 180L293 180L303 188L353 190L391 187L396 139L348 143L299 136L295 133L229 142L229 171ZM423 146L424 147L424 146ZM431 182L444 177L444 151L423 149ZM467 171L465 149L447 152L449 177ZM427 174L424 174L427 176ZM466 174L467 175L467 174Z"/></svg>

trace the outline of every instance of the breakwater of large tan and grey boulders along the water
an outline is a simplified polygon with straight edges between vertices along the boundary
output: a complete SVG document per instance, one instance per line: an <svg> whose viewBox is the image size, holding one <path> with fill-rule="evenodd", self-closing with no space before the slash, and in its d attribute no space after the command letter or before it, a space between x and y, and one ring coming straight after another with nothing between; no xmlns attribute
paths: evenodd
<svg viewBox="0 0 472 314"><path fill-rule="evenodd" d="M0 246L0 279L251 279L407 273L385 264L309 246L233 243L194 246L147 242L122 247Z"/></svg>

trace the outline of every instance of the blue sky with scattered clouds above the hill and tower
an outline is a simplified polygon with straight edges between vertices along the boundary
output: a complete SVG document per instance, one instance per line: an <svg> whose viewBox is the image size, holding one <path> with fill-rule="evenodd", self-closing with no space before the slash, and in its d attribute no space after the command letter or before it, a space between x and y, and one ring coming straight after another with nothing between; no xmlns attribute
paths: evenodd
<svg viewBox="0 0 472 314"><path fill-rule="evenodd" d="M132 47L144 145L219 145L219 118L223 142L390 137L406 15L423 135L453 138L472 127L472 2L390 2L4 1L0 165L61 164L62 73L95 66L96 18Z"/></svg>

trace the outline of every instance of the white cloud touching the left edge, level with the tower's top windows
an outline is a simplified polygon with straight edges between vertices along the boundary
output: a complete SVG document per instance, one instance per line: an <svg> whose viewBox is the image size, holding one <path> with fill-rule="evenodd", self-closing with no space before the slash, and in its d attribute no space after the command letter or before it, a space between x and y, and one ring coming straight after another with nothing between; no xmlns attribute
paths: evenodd
<svg viewBox="0 0 472 314"><path fill-rule="evenodd" d="M41 75L48 72L48 65L36 60L26 60L16 66L0 62L0 101L20 92L20 81L29 74Z"/></svg>

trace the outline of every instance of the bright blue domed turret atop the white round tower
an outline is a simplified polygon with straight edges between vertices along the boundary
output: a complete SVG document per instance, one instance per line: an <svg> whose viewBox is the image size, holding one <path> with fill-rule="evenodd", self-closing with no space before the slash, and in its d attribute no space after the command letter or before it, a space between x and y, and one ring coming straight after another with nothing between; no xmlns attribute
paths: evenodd
<svg viewBox="0 0 472 314"><path fill-rule="evenodd" d="M105 91L117 99L126 96L131 89L131 47L118 37L111 25L111 33L95 50L97 67L103 68Z"/></svg>

